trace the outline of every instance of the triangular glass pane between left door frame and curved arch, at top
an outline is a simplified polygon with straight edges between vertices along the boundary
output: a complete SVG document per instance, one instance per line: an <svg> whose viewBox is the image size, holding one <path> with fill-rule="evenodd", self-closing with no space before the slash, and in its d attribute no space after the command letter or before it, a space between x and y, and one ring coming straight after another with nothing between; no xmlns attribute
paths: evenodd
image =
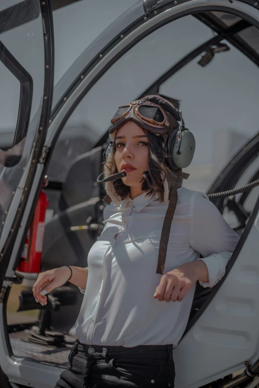
<svg viewBox="0 0 259 388"><path fill-rule="evenodd" d="M55 85L94 39L136 2L137 0L74 1L53 11Z"/></svg>

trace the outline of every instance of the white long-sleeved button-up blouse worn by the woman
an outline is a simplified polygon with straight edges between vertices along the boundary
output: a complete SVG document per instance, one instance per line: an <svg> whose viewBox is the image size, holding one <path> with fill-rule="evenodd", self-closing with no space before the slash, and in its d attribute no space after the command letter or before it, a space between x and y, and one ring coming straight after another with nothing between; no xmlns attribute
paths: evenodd
<svg viewBox="0 0 259 388"><path fill-rule="evenodd" d="M173 344L181 339L195 285L182 302L154 299L162 275L156 273L167 202L141 194L104 208L105 227L88 254L88 279L81 310L69 333L90 345ZM178 189L164 274L202 259L214 286L239 236L206 194Z"/></svg>

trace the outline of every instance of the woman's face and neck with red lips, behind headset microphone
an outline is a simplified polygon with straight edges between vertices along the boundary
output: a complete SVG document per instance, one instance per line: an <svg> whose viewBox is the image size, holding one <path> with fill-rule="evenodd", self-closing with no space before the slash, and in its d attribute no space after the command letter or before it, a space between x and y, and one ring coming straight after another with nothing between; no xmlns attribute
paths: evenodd
<svg viewBox="0 0 259 388"><path fill-rule="evenodd" d="M130 186L130 197L142 194L141 179L148 170L148 138L141 127L128 121L117 131L115 138L115 162L118 172L125 170L123 183ZM128 169L127 165L133 167Z"/></svg>

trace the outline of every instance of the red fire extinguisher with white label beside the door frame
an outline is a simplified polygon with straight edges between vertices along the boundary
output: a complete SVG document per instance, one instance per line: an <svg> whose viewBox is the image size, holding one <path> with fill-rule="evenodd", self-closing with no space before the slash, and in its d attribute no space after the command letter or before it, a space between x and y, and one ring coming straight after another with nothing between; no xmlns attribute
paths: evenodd
<svg viewBox="0 0 259 388"><path fill-rule="evenodd" d="M46 182L43 186L47 186ZM45 230L45 215L49 201L46 193L40 192L37 204L35 207L33 219L29 227L27 237L25 239L21 258L17 267L17 271L39 273L41 270L41 255L42 245Z"/></svg>

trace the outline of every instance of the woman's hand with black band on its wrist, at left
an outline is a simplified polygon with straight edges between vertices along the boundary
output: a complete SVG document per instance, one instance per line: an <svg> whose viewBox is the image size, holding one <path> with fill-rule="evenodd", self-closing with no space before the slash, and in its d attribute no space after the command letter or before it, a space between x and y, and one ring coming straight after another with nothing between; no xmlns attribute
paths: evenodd
<svg viewBox="0 0 259 388"><path fill-rule="evenodd" d="M70 274L71 272L68 267L50 269L48 271L39 273L38 278L32 287L36 302L39 302L42 305L46 305L47 297L46 295L42 295L41 292L46 290L45 294L48 294L54 290L54 288L62 286L69 279Z"/></svg>

